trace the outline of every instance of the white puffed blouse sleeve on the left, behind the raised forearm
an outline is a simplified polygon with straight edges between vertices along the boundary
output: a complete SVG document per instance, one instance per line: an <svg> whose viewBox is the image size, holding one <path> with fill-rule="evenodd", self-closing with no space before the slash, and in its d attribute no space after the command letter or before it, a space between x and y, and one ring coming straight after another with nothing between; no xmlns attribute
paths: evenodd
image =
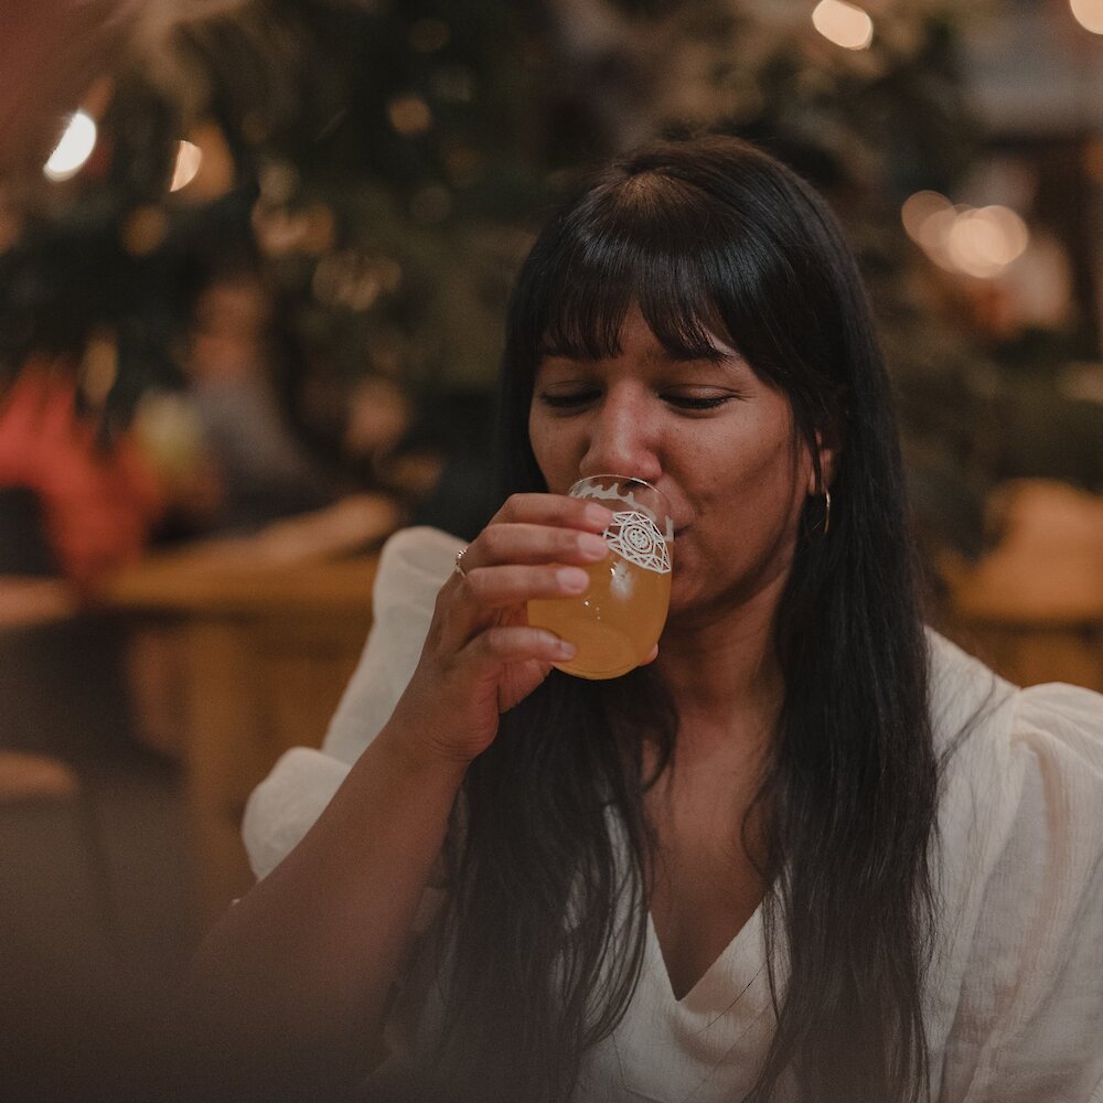
<svg viewBox="0 0 1103 1103"><path fill-rule="evenodd" d="M384 545L373 624L321 750L287 751L249 797L242 835L257 878L307 834L353 762L394 711L417 666L437 591L462 543L436 528L406 528Z"/></svg>

